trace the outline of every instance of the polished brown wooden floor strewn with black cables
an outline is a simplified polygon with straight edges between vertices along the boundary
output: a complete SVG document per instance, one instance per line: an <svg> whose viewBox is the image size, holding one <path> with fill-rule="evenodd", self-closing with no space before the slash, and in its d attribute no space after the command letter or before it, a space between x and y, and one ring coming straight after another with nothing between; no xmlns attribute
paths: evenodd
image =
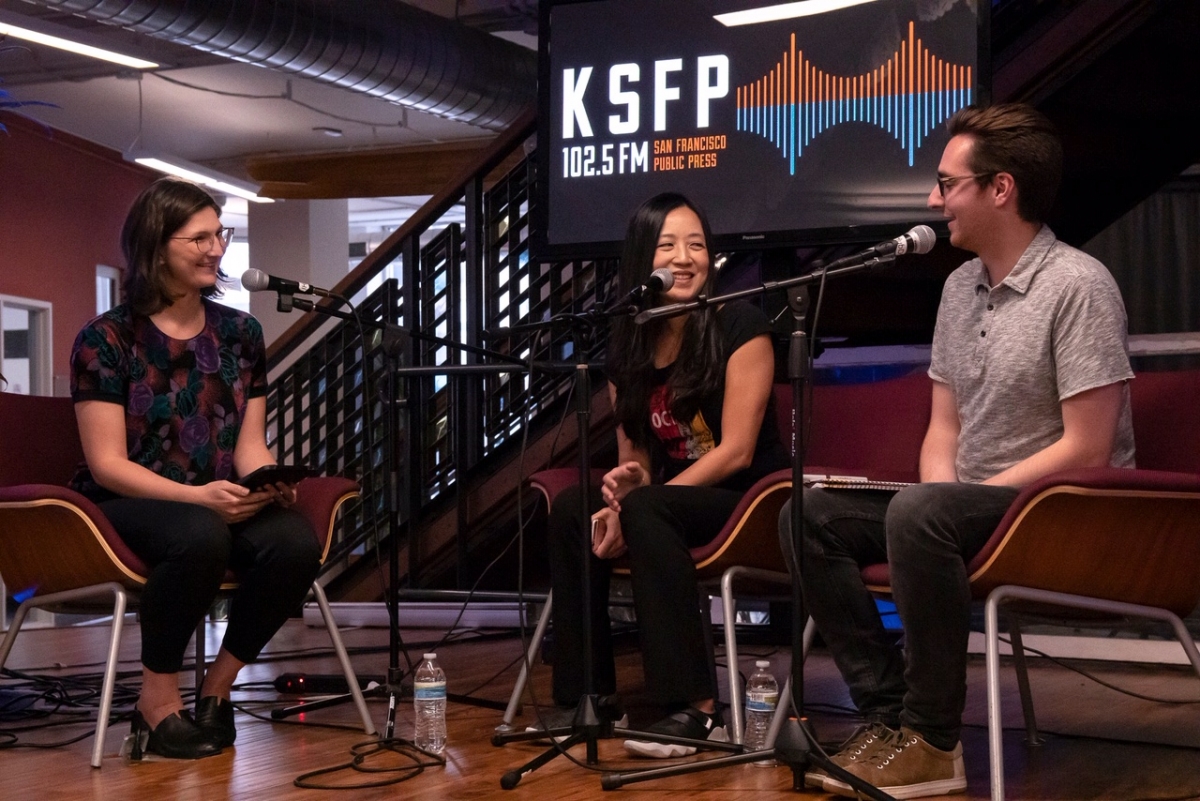
<svg viewBox="0 0 1200 801"><path fill-rule="evenodd" d="M209 652L216 648L221 625L210 626ZM344 632L347 645L361 649L354 656L362 675L382 675L388 664L388 636L384 630ZM404 639L413 658L440 637L440 632L406 631ZM107 628L103 626L71 630L34 630L17 640L8 667L41 675L71 675L98 669L104 654ZM334 674L323 630L307 628L292 621L272 640L266 662L247 668L247 682L271 682L280 673L306 671ZM520 640L486 639L438 646L442 663L450 676L451 693L504 701L512 686L516 668L505 666L521 652ZM787 670L787 654L761 646L746 649L742 669L752 660L767 656L780 675ZM137 626L130 626L122 646L122 669L136 671L138 654ZM618 657L622 693L632 723L650 723L659 711L648 705L641 692L640 661L631 649ZM1019 703L1012 670L1006 667L1004 717L1006 781L1008 799L1200 799L1200 704L1164 705L1129 698L1106 689L1082 676L1054 664L1034 661L1031 670L1038 723L1046 742L1028 747L1024 742ZM1136 692L1176 699L1200 698L1200 681L1180 668L1136 666L1096 666L1088 669L1105 680ZM503 669L503 671L502 671ZM724 681L724 669L720 671ZM540 666L535 671L539 698L548 693L550 671ZM0 691L13 687L12 680L0 682ZM264 686L266 686L264 685ZM816 650L806 667L805 704L822 742L844 736L853 721L835 712L847 704L845 686L828 656ZM131 683L126 698L136 693ZM235 700L246 710L268 713L281 701L274 689L245 689ZM0 705L2 706L2 705ZM386 718L383 699L371 703L377 725ZM127 706L126 706L127 709ZM502 712L478 705L451 703L448 711L449 746L445 766L434 766L389 787L368 787L402 776L409 763L398 754L380 752L362 760L366 771L341 770L322 777L344 790L301 789L294 779L301 773L343 765L352 749L370 743L372 737L355 730L356 717L350 705L310 712L302 723L271 723L238 715L238 745L226 753L200 761L172 760L126 763L119 749L127 723L115 724L107 737L106 759L101 770L88 765L92 739L53 748L17 747L0 749L0 799L5 801L46 801L49 799L98 799L127 801L137 799L594 799L602 794L601 771L625 771L661 763L626 758L618 740L600 742L600 764L586 766L559 757L526 776L520 785L505 793L500 777L534 755L542 746L509 743L493 747L493 729ZM527 707L518 718L530 719ZM983 662L973 660L970 670L967 728L964 734L968 795L986 799L988 743ZM20 729L22 723L0 721L0 730ZM335 725L338 728L329 728ZM20 746L35 746L70 735L86 734L88 724L19 731ZM412 703L404 699L397 715L397 735L412 736ZM6 737L0 735L0 742ZM370 749L370 746L367 746ZM583 747L572 755L581 761ZM702 757L697 757L702 758ZM696 758L694 758L696 759ZM353 788L353 789L352 789ZM607 797L662 799L676 794L716 801L728 799L782 799L793 795L792 775L786 766L762 769L752 765L725 767L689 776L629 784ZM808 791L804 797L823 799Z"/></svg>

